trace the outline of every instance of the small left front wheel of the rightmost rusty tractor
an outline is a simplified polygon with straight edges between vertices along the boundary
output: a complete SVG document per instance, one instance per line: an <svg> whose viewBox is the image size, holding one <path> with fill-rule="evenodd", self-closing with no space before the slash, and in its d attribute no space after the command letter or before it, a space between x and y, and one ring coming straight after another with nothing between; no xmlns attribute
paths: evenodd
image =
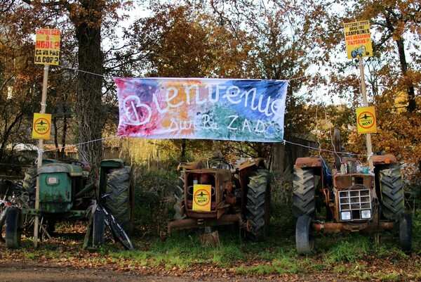
<svg viewBox="0 0 421 282"><path fill-rule="evenodd" d="M314 238L312 236L312 217L302 215L297 219L295 226L295 245L298 255L309 255L314 248Z"/></svg>

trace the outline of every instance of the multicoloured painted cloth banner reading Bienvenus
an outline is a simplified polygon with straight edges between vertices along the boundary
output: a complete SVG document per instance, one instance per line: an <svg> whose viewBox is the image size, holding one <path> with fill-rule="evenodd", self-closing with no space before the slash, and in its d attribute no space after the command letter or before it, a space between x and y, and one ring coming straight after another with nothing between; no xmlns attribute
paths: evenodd
<svg viewBox="0 0 421 282"><path fill-rule="evenodd" d="M119 136L283 140L288 81L116 77L114 82Z"/></svg>

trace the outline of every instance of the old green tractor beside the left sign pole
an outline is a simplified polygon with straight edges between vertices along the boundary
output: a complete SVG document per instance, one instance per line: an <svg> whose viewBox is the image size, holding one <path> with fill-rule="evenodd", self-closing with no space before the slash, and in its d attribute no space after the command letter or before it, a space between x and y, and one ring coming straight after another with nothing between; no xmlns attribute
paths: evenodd
<svg viewBox="0 0 421 282"><path fill-rule="evenodd" d="M98 186L88 184L91 167L83 162L43 160L41 167L29 167L22 186L27 200L11 207L6 217L6 247L19 248L22 232L34 232L34 216L38 216L41 238L54 231L58 219L82 219L93 198L114 215L127 233L134 228L133 176L123 160L102 160ZM35 209L36 177L39 177L39 208ZM95 237L98 234L94 234Z"/></svg>

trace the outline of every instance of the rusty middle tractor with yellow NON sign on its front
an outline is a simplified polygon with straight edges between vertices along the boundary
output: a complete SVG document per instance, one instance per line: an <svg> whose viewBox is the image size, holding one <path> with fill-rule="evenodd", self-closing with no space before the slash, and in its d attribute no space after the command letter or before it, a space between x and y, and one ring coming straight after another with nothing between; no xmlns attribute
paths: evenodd
<svg viewBox="0 0 421 282"><path fill-rule="evenodd" d="M168 235L176 229L238 224L248 237L262 241L269 228L269 172L262 158L243 162L239 169L225 160L207 168L199 162L179 166L175 216Z"/></svg>

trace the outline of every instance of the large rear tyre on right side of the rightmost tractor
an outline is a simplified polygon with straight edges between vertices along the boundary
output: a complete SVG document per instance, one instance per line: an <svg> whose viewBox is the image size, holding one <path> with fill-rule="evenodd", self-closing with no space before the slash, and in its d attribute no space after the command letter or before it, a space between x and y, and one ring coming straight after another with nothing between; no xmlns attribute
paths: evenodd
<svg viewBox="0 0 421 282"><path fill-rule="evenodd" d="M379 172L382 192L382 214L386 219L399 219L405 209L402 174L399 165L391 165Z"/></svg>

